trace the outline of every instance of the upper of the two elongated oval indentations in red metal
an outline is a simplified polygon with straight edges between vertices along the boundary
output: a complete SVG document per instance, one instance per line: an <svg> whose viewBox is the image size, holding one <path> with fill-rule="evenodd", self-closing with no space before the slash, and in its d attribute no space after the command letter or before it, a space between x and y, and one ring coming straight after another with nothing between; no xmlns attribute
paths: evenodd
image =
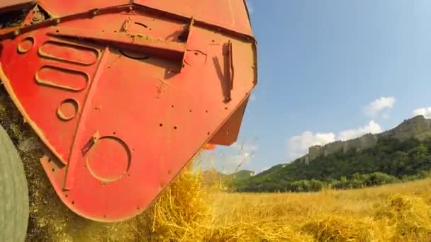
<svg viewBox="0 0 431 242"><path fill-rule="evenodd" d="M38 53L41 57L48 59L57 59L62 62L72 62L83 65L94 64L99 58L99 51L94 48L53 40L49 40L41 45Z"/></svg>

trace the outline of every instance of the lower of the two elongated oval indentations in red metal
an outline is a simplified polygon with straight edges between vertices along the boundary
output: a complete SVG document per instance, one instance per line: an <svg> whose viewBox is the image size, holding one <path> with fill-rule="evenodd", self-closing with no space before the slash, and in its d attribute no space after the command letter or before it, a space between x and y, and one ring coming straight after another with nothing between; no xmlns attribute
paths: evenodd
<svg viewBox="0 0 431 242"><path fill-rule="evenodd" d="M68 91L82 91L88 84L89 76L82 71L43 66L36 72L35 79L40 85L62 88Z"/></svg>

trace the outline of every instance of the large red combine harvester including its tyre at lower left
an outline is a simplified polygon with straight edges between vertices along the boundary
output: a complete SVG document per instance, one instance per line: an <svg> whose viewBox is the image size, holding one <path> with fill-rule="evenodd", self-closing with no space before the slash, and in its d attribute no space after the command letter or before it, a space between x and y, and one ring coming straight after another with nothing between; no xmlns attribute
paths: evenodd
<svg viewBox="0 0 431 242"><path fill-rule="evenodd" d="M0 1L0 79L69 209L142 213L206 144L236 141L257 83L244 0ZM0 241L23 241L26 174L0 129Z"/></svg>

